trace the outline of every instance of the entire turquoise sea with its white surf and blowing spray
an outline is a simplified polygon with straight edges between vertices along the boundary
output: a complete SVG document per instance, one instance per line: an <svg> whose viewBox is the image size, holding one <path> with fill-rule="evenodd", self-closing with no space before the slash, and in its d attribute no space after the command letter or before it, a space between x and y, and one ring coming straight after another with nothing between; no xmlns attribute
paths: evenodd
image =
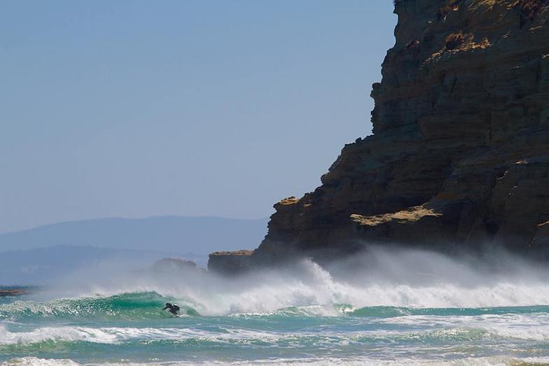
<svg viewBox="0 0 549 366"><path fill-rule="evenodd" d="M548 270L489 258L376 249L236 278L86 269L0 299L0 363L549 364Z"/></svg>

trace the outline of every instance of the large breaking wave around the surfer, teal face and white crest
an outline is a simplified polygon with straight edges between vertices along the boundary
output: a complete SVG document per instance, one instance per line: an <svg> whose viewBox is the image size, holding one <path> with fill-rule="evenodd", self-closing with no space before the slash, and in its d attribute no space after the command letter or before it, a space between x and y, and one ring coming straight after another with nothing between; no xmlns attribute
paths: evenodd
<svg viewBox="0 0 549 366"><path fill-rule="evenodd" d="M447 263L440 264L444 260ZM445 258L426 264L415 260L415 269L410 269L404 259L401 262L396 260L383 265L382 270L352 276L333 275L303 260L292 269L238 279L186 272L170 276L169 281L164 276L144 275L120 277L110 283L78 283L74 286L77 290L65 297L54 292L50 300L0 304L0 321L36 317L166 318L169 314L160 311L165 302L176 302L181 314L188 316L473 316L549 309L545 272L521 269L509 271L507 276L494 275ZM429 267L431 262L443 270Z"/></svg>

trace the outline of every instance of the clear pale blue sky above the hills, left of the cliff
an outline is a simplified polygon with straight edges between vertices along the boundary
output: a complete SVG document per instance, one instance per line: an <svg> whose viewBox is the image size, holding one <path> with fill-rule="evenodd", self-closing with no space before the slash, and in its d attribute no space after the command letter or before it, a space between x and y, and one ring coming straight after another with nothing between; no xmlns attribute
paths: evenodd
<svg viewBox="0 0 549 366"><path fill-rule="evenodd" d="M0 232L269 216L371 132L391 0L0 2Z"/></svg>

